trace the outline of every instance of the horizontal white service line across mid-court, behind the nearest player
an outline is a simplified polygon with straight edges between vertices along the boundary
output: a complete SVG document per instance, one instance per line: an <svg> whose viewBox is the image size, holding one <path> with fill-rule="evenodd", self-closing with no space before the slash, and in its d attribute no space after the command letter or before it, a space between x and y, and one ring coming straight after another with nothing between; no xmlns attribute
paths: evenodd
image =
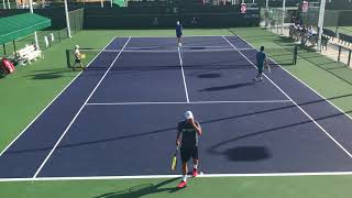
<svg viewBox="0 0 352 198"><path fill-rule="evenodd" d="M186 103L285 103L290 100L229 100L229 101L188 101L188 102L107 102L86 103L87 106L139 106L139 105L186 105Z"/></svg>

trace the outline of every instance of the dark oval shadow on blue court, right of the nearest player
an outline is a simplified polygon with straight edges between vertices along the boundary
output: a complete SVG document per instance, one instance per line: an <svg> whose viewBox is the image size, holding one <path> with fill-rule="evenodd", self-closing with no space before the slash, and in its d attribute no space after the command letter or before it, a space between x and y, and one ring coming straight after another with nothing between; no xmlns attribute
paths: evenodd
<svg viewBox="0 0 352 198"><path fill-rule="evenodd" d="M239 146L222 152L229 161L253 162L270 158L272 154L264 146Z"/></svg>

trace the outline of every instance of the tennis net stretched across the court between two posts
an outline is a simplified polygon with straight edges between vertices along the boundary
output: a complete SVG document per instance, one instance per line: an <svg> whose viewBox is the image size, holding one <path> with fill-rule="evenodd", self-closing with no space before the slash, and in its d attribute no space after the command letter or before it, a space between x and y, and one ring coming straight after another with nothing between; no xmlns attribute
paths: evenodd
<svg viewBox="0 0 352 198"><path fill-rule="evenodd" d="M129 56L139 58L141 54L151 54L151 56L160 57L165 55L165 53L180 53L180 58L183 61L191 59L195 55L213 57L219 59L243 59L243 56L248 59L255 62L255 55L257 53L256 48L230 48L230 47L169 47L169 48L156 48L151 47L133 47L132 50L125 48L121 50L97 50L97 48L80 48L81 59L84 64L90 63L94 58L99 57L103 59L105 57L117 57L121 53L129 53ZM196 54L197 53L197 54ZM270 61L275 62L278 65L295 65L297 63L297 46L286 46L276 48L265 48L265 53ZM67 67L73 68L75 64L75 50L66 50L66 62ZM255 64L255 63L254 63ZM201 65L201 64L200 64ZM206 65L206 64L205 64Z"/></svg>

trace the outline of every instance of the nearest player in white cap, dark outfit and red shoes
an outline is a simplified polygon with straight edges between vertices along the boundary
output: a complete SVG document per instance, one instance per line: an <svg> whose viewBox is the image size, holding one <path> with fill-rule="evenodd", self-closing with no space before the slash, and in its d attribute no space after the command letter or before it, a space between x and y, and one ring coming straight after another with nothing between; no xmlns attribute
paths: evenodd
<svg viewBox="0 0 352 198"><path fill-rule="evenodd" d="M178 123L176 145L180 145L180 158L183 164L183 180L178 184L178 188L187 185L187 162L193 157L194 170L193 176L198 175L198 138L201 135L199 122L195 121L191 111L185 112L186 120ZM180 142L182 140L182 142Z"/></svg>

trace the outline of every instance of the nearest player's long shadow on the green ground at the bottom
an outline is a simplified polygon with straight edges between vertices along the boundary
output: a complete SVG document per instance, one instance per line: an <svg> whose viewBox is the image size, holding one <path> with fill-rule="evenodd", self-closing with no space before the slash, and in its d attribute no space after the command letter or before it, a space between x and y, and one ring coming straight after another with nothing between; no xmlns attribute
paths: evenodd
<svg viewBox="0 0 352 198"><path fill-rule="evenodd" d="M175 187L163 187L166 185L169 185L170 183L174 183L175 180L179 179L170 178L164 182L161 182L158 184L141 184L136 186L132 186L128 189L120 190L120 191L112 191L108 194L103 194L94 198L131 198L131 197L144 197L151 194L157 194L157 193L164 193L168 191L169 194L176 193L179 190L179 188Z"/></svg>

